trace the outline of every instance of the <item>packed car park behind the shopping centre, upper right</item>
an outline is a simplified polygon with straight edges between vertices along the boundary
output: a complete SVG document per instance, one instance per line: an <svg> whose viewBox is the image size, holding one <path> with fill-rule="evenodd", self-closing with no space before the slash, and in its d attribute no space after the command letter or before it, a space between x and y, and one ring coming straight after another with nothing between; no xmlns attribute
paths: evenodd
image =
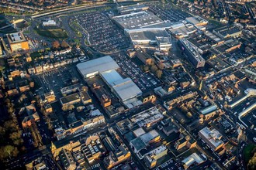
<svg viewBox="0 0 256 170"><path fill-rule="evenodd" d="M161 8L157 5L150 6L150 11L159 16L161 19L169 20L170 22L178 22L191 16L188 13L182 12L175 8Z"/></svg>

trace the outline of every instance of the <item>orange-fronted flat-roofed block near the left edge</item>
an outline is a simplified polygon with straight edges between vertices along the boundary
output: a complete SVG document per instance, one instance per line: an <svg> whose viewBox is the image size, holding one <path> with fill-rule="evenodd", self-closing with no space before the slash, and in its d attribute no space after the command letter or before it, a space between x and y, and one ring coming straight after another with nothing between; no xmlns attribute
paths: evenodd
<svg viewBox="0 0 256 170"><path fill-rule="evenodd" d="M29 42L26 40L25 36L22 34L22 32L15 32L6 34L9 47L12 50L12 52L18 51L18 50L27 50L29 49Z"/></svg>

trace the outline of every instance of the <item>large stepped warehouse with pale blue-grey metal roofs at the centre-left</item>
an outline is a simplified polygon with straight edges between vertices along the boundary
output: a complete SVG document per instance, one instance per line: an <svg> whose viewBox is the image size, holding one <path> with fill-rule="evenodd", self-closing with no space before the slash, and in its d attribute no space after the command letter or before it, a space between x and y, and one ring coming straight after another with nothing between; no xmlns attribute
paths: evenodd
<svg viewBox="0 0 256 170"><path fill-rule="evenodd" d="M85 63L78 63L79 73L85 78L99 74L102 80L109 86L112 93L128 108L136 107L142 102L137 99L142 91L130 78L123 78L116 69L119 68L111 56L92 59Z"/></svg>

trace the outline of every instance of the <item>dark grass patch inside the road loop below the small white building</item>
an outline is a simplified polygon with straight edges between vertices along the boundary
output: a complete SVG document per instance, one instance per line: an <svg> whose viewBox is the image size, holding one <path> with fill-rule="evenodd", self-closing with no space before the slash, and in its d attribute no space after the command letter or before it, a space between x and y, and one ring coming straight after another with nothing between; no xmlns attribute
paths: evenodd
<svg viewBox="0 0 256 170"><path fill-rule="evenodd" d="M38 33L40 36L45 36L49 38L54 39L66 39L67 32L64 32L63 29L34 29L36 33Z"/></svg>

